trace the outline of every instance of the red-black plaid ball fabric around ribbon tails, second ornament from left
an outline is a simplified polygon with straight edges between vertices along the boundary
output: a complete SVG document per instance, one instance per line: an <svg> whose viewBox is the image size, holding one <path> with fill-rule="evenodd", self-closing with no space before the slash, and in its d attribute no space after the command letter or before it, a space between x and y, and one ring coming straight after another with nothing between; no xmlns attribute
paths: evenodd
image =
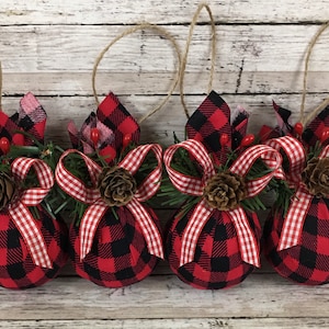
<svg viewBox="0 0 329 329"><path fill-rule="evenodd" d="M148 252L139 225L126 207L109 209L101 219L91 251L80 261L79 227L70 228L70 258L81 277L106 287L139 282L155 269L158 258ZM159 219L147 208L158 228Z"/></svg>

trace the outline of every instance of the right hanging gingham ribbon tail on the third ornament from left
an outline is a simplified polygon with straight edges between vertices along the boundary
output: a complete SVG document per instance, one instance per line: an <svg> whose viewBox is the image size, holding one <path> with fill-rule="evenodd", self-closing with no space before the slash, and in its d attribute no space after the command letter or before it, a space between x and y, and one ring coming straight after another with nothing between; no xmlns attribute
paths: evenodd
<svg viewBox="0 0 329 329"><path fill-rule="evenodd" d="M260 268L260 252L256 237L248 223L247 215L241 207L228 211L232 224L235 225L243 262Z"/></svg>

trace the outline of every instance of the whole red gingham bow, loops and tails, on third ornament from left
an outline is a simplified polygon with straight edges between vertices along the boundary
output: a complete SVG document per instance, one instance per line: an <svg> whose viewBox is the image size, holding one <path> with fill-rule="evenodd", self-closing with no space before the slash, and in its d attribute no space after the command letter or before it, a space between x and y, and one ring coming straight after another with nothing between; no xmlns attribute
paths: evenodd
<svg viewBox="0 0 329 329"><path fill-rule="evenodd" d="M180 147L186 149L202 167L203 177L201 179L185 175L172 169L172 157ZM259 158L261 158L272 171L247 183L248 197L259 194L270 182L275 171L279 170L282 161L280 154L269 146L257 145L248 148L229 168L230 172L243 177ZM185 194L202 196L206 181L215 174L213 161L205 147L194 139L189 139L169 147L164 152L163 160L172 184L180 192ZM195 206L183 232L180 266L193 261L201 231L214 211L216 209L211 207L204 197L202 197ZM260 266L258 242L252 234L245 211L239 206L226 213L235 225L242 260L247 263Z"/></svg>

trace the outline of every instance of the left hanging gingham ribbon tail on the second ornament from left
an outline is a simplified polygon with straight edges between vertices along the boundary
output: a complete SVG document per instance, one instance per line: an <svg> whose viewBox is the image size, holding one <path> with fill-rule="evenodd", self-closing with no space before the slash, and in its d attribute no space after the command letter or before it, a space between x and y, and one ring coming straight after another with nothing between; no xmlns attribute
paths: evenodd
<svg viewBox="0 0 329 329"><path fill-rule="evenodd" d="M107 208L102 200L98 200L84 212L80 224L80 261L90 252L97 228Z"/></svg>

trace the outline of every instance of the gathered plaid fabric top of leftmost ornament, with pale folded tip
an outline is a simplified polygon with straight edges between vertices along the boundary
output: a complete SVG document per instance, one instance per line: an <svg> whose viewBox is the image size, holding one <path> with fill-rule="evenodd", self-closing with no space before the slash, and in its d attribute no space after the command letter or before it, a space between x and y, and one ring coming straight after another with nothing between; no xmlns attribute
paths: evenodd
<svg viewBox="0 0 329 329"><path fill-rule="evenodd" d="M11 141L16 131L23 131L32 135L39 143L43 143L46 118L45 110L37 99L29 92L22 98L19 112L12 116L0 112L0 136L7 137ZM26 137L24 141L25 145L33 144L33 141Z"/></svg>

